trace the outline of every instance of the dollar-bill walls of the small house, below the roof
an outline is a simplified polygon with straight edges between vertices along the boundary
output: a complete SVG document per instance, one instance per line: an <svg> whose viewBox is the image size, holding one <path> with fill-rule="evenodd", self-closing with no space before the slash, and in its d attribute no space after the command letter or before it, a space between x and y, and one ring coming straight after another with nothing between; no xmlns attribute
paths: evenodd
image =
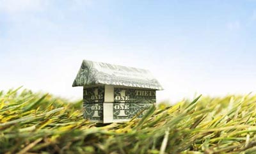
<svg viewBox="0 0 256 154"><path fill-rule="evenodd" d="M84 118L102 123L129 121L141 118L147 109L156 105L156 90L98 86L84 88Z"/></svg>

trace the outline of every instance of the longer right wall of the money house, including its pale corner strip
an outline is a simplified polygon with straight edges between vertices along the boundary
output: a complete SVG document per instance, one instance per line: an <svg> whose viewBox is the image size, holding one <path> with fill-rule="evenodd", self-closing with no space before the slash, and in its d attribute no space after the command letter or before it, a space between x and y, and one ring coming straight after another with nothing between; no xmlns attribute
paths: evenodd
<svg viewBox="0 0 256 154"><path fill-rule="evenodd" d="M156 90L105 86L104 123L141 118L156 105Z"/></svg>

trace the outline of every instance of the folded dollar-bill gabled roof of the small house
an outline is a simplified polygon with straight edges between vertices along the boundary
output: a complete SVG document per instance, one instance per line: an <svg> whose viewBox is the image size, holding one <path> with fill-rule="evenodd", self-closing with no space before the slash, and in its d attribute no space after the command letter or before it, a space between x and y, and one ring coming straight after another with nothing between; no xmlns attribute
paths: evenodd
<svg viewBox="0 0 256 154"><path fill-rule="evenodd" d="M83 60L72 86L93 86L97 84L163 89L148 70Z"/></svg>

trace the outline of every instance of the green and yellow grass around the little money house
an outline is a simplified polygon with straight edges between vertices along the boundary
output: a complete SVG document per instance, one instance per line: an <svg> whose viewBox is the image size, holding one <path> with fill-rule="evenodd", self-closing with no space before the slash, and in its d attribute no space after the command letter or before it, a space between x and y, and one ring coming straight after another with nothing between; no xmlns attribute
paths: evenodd
<svg viewBox="0 0 256 154"><path fill-rule="evenodd" d="M82 102L27 89L0 92L0 153L256 153L256 96L160 104L142 119L100 126Z"/></svg>

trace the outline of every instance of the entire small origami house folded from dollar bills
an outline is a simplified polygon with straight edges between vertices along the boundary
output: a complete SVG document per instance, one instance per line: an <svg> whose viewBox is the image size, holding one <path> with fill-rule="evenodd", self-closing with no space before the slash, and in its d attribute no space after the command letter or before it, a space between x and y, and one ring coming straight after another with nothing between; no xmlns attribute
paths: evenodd
<svg viewBox="0 0 256 154"><path fill-rule="evenodd" d="M83 116L99 123L140 118L163 89L148 70L84 60L73 87L83 86Z"/></svg>

